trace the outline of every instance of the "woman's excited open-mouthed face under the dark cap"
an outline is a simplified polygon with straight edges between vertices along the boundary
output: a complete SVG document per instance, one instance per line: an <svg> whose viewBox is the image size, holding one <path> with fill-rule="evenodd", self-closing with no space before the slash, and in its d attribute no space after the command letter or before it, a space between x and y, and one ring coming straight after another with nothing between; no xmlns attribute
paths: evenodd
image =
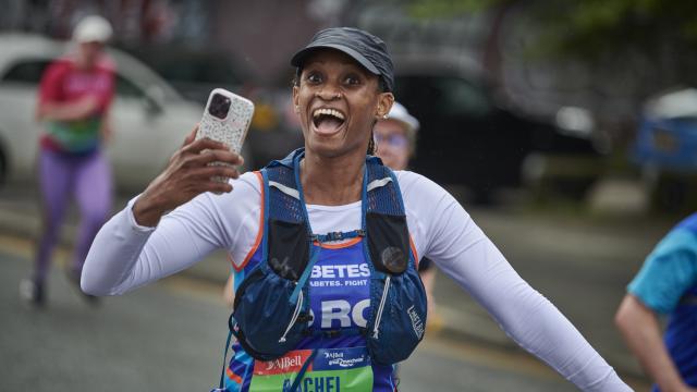
<svg viewBox="0 0 697 392"><path fill-rule="evenodd" d="M380 91L378 76L333 49L308 57L293 87L305 147L325 157L365 155L374 122L393 101L391 93Z"/></svg>

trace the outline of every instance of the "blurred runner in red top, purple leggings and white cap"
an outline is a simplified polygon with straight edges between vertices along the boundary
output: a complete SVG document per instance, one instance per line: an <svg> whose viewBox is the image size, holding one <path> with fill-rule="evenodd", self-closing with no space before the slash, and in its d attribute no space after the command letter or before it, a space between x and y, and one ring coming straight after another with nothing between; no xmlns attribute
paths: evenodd
<svg viewBox="0 0 697 392"><path fill-rule="evenodd" d="M38 156L44 226L33 275L21 283L22 297L34 305L45 303L51 253L70 198L75 198L81 213L68 270L75 285L91 241L111 209L111 168L101 148L110 137L114 95L113 63L103 53L111 36L103 17L82 19L73 30L74 51L51 63L41 77L36 115L44 123Z"/></svg>

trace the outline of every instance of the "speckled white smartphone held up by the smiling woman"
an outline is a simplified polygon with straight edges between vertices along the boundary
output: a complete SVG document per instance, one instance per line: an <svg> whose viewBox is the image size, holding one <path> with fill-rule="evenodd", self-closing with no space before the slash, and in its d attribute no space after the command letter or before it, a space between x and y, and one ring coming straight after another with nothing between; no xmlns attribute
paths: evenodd
<svg viewBox="0 0 697 392"><path fill-rule="evenodd" d="M227 89L216 88L208 96L196 138L208 137L224 143L231 151L240 154L253 115L254 103L250 100ZM224 163L212 162L210 164ZM227 183L229 179L215 176L212 180Z"/></svg>

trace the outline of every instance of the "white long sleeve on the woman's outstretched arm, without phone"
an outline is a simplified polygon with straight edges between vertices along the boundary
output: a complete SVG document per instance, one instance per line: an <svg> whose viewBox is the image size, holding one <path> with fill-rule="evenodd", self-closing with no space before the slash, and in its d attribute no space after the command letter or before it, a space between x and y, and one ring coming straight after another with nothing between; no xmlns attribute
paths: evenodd
<svg viewBox="0 0 697 392"><path fill-rule="evenodd" d="M454 279L518 345L584 391L631 391L574 326L525 282L442 187L399 172L417 252Z"/></svg>

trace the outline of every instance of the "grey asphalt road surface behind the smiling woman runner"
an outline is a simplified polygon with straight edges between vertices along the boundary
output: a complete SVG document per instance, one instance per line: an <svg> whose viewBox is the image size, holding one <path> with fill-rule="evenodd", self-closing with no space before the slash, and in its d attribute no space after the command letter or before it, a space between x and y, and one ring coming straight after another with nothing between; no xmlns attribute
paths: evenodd
<svg viewBox="0 0 697 392"><path fill-rule="evenodd" d="M201 391L217 380L225 334L220 286L182 275L101 306L54 268L49 306L28 309L17 282L29 242L0 235L1 391ZM65 253L59 252L60 264ZM401 368L400 391L573 391L517 351L427 339Z"/></svg>

